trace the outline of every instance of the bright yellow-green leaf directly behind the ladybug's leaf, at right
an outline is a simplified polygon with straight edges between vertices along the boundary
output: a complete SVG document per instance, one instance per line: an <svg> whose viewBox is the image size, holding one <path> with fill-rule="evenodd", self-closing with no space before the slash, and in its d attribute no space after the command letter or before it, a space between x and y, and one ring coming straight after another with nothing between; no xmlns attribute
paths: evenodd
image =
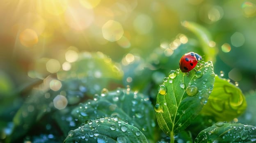
<svg viewBox="0 0 256 143"><path fill-rule="evenodd" d="M240 116L246 107L242 91L226 79L215 76L213 92L201 113L213 116L217 121L231 121Z"/></svg>

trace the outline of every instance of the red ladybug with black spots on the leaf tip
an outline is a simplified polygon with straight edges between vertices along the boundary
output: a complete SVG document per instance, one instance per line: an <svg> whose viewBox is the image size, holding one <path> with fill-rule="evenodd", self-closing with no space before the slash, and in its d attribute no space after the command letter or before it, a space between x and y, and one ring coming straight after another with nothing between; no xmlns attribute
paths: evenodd
<svg viewBox="0 0 256 143"><path fill-rule="evenodd" d="M194 69L194 67L197 65L199 60L202 60L202 56L200 56L197 53L189 52L189 53L184 54L181 57L181 60L179 63L181 71L187 72L187 76L188 76L189 71Z"/></svg>

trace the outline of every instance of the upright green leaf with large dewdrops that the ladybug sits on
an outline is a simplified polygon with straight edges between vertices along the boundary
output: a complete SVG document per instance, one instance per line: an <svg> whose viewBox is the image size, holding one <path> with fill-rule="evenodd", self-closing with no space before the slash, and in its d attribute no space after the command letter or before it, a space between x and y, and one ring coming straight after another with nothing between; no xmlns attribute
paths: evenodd
<svg viewBox="0 0 256 143"><path fill-rule="evenodd" d="M160 85L155 111L158 125L167 135L184 130L207 102L215 74L212 62L202 63L189 76L180 69L170 71Z"/></svg>

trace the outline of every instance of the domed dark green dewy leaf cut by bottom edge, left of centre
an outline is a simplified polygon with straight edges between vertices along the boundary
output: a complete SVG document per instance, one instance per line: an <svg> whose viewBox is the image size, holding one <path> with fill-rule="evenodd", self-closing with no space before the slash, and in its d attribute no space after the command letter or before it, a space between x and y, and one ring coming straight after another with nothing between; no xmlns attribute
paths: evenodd
<svg viewBox="0 0 256 143"><path fill-rule="evenodd" d="M89 120L69 131L64 143L148 143L139 129L117 118Z"/></svg>

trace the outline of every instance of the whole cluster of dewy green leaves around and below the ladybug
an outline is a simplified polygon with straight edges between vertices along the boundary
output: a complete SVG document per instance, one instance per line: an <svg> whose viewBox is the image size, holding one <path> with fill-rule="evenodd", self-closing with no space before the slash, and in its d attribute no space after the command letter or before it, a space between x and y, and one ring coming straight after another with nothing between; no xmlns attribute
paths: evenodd
<svg viewBox="0 0 256 143"><path fill-rule="evenodd" d="M199 42L182 44L169 57L155 49L156 55L151 56L157 58L135 60L121 67L101 52L80 53L69 71L48 76L30 92L23 105L11 108L15 111L13 121L1 131L2 136L7 136L5 141L255 141L255 120L246 120L247 114L254 115L254 109L249 108L240 117L251 125L226 123L245 112L247 102L237 86L214 73L217 51L208 46L208 32L192 22L183 22L183 26L194 32ZM206 55L209 61L201 62L189 76L180 69L170 71L178 65L172 61L178 61L187 49ZM127 82L128 77L133 81ZM57 91L51 88L52 80L61 84ZM64 109L55 108L53 100L57 95L66 98L68 105ZM255 92L252 95L249 97L254 98ZM4 116L6 112L0 109Z"/></svg>

